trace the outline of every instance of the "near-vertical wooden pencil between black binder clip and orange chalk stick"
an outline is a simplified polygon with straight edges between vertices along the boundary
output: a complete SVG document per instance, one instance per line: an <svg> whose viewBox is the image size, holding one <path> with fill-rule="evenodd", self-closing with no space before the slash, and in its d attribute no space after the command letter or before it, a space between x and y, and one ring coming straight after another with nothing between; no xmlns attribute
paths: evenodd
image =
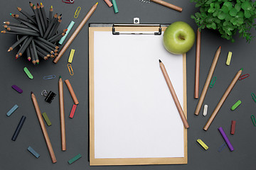
<svg viewBox="0 0 256 170"><path fill-rule="evenodd" d="M64 96L63 96L63 81L60 77L58 81L59 87L59 99L60 99L60 130L61 130L61 148L63 151L66 150L65 140L65 113L64 113Z"/></svg>

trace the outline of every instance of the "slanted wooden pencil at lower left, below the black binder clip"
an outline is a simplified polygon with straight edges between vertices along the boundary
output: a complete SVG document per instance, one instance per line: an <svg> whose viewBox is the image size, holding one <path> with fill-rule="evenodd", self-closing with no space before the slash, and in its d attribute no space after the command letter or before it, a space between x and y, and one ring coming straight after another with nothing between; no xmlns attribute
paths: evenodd
<svg viewBox="0 0 256 170"><path fill-rule="evenodd" d="M32 101L33 101L33 106L36 109L36 115L37 115L39 123L41 125L41 130L43 132L43 136L44 136L44 138L46 140L46 145L47 145L48 151L50 153L50 158L52 159L52 162L55 163L55 162L57 162L57 159L56 159L55 154L53 152L53 147L52 147L52 145L50 143L50 137L49 137L48 132L46 130L46 125L43 122L43 117L42 117L40 108L38 106L38 102L36 101L36 96L33 94L32 91L31 91L31 98L32 98Z"/></svg>

